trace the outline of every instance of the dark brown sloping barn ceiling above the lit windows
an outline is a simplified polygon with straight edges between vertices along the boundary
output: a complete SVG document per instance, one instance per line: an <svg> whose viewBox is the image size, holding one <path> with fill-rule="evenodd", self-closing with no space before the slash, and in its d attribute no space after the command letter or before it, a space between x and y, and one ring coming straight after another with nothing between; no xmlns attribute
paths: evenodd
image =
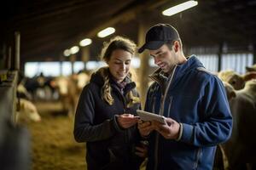
<svg viewBox="0 0 256 170"><path fill-rule="evenodd" d="M188 48L228 44L247 50L256 44L256 0L198 0L195 8L170 17L163 9L185 0L9 0L1 5L0 45L13 44L20 31L20 60L58 60L63 50L90 37L90 58L97 59L107 26L115 35L138 39L139 26L171 23ZM3 45L4 44L4 45ZM245 48L244 48L245 47Z"/></svg>

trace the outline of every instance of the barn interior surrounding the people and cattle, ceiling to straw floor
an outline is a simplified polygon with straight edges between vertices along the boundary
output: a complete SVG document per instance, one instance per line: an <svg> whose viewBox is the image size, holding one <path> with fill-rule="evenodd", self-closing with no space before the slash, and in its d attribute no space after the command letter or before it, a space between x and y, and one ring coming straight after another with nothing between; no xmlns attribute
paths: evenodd
<svg viewBox="0 0 256 170"><path fill-rule="evenodd" d="M86 167L84 144L74 141L73 118L67 116L58 92L39 88L34 94L28 94L40 120L32 120L25 114L17 120L20 98L16 94L20 75L37 80L44 75L45 81L60 76L71 77L81 70L95 71L102 66L99 56L103 42L123 36L140 47L148 28L158 23L175 26L183 41L184 54L196 54L212 72L231 69L242 75L246 73L246 67L256 63L256 0L198 0L193 8L171 16L162 14L167 8L184 2L3 2L0 7L1 169ZM99 31L108 27L114 28L113 34L97 36ZM85 38L91 42L82 46L80 42ZM72 49L77 50L73 52ZM147 52L136 54L134 60L141 87L139 92L144 102L148 74L157 65ZM12 156L14 151L15 157Z"/></svg>

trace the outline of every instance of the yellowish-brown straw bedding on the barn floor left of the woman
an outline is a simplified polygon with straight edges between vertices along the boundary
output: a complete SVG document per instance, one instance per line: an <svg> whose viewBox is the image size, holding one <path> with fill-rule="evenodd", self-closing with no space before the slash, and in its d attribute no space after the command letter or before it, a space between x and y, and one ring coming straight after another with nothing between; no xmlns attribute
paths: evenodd
<svg viewBox="0 0 256 170"><path fill-rule="evenodd" d="M37 103L41 122L26 123L32 139L32 170L84 169L84 144L73 139L73 120L58 103Z"/></svg>

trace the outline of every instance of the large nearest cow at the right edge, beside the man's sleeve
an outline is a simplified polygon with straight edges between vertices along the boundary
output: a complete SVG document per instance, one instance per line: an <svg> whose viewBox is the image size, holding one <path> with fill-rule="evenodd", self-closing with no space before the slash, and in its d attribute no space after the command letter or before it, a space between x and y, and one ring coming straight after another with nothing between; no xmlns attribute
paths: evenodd
<svg viewBox="0 0 256 170"><path fill-rule="evenodd" d="M256 153L256 79L245 84L245 88L235 90L224 82L233 116L230 139L220 144L223 156L228 160L228 169L253 169Z"/></svg>

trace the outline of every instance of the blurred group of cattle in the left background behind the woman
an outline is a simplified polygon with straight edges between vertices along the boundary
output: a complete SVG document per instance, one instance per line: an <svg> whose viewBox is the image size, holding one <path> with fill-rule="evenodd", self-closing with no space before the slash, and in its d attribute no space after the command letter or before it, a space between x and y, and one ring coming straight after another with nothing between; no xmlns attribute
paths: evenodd
<svg viewBox="0 0 256 170"><path fill-rule="evenodd" d="M38 114L33 101L58 99L61 101L62 111L67 116L73 116L85 84L89 82L90 76L85 72L73 74L70 77L33 77L22 78L17 87L17 114L19 117L34 122L39 122L41 116Z"/></svg>

